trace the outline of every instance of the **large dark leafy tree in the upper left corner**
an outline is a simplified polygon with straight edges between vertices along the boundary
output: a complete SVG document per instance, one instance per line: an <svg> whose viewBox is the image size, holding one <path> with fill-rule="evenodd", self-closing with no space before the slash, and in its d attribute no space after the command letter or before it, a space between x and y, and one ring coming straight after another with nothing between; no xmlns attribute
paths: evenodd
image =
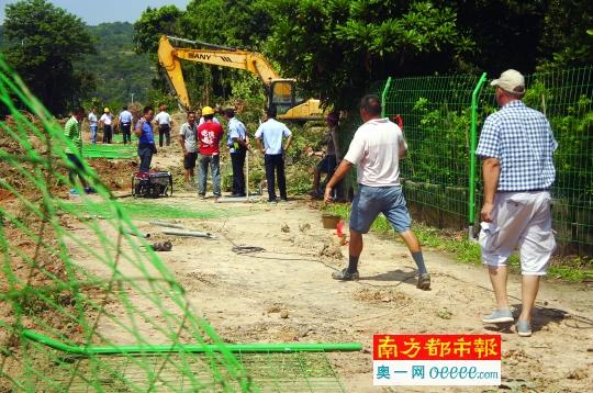
<svg viewBox="0 0 593 393"><path fill-rule="evenodd" d="M34 94L55 114L76 105L92 77L74 61L94 52L80 18L45 0L5 7L4 56Z"/></svg>

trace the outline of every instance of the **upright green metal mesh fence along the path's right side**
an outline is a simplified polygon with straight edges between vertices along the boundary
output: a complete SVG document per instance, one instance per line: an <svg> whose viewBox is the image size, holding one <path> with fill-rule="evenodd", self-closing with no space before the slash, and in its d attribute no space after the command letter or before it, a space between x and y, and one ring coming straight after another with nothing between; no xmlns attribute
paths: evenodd
<svg viewBox="0 0 593 393"><path fill-rule="evenodd" d="M527 105L546 113L559 148L553 224L563 252L593 251L593 67L526 77ZM485 117L497 110L486 76L389 79L369 91L384 115L403 119L410 150L402 182L415 220L470 232L482 201L473 151ZM378 91L378 88L382 90Z"/></svg>

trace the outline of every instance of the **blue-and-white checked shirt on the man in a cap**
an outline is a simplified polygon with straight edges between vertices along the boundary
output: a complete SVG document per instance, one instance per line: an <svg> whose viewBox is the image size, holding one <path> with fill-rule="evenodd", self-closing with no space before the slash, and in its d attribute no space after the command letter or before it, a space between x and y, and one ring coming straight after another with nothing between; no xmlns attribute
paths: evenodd
<svg viewBox="0 0 593 393"><path fill-rule="evenodd" d="M557 147L546 116L516 100L486 117L475 154L500 160L497 191L539 191L553 183Z"/></svg>

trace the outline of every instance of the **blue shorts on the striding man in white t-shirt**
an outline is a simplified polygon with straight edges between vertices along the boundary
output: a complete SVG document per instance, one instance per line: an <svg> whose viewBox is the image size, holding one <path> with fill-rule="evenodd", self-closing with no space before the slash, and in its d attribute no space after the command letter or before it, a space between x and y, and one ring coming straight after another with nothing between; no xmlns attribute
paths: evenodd
<svg viewBox="0 0 593 393"><path fill-rule="evenodd" d="M401 186L359 184L350 212L350 229L360 234L368 233L379 213L383 213L395 232L403 233L410 229L412 222Z"/></svg>

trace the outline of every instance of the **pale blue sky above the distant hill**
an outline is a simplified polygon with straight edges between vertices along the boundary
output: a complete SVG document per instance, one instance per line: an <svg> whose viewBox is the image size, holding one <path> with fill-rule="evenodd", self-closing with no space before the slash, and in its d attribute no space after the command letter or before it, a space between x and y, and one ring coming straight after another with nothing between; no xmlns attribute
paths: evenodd
<svg viewBox="0 0 593 393"><path fill-rule="evenodd" d="M0 24L4 23L4 5L18 1L0 0ZM49 2L74 13L89 25L97 25L103 22L135 22L146 7L175 4L184 10L190 0L51 0Z"/></svg>

